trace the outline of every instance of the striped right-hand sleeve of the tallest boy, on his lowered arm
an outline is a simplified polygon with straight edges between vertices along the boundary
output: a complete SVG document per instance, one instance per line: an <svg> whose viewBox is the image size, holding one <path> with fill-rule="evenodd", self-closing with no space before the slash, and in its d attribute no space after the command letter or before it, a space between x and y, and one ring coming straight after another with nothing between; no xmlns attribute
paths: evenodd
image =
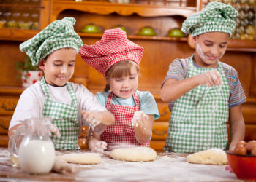
<svg viewBox="0 0 256 182"><path fill-rule="evenodd" d="M222 63L222 67L224 68L225 76L230 85L230 99L228 103L229 108L233 108L235 106L241 105L242 103L245 103L246 96L244 94L241 82L239 81L237 71L235 68L225 63Z"/></svg>

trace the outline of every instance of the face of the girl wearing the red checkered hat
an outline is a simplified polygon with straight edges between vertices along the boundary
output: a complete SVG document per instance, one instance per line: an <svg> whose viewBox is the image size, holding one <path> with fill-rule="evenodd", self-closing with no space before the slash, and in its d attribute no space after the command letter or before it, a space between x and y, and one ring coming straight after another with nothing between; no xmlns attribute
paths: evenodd
<svg viewBox="0 0 256 182"><path fill-rule="evenodd" d="M138 88L138 72L135 66L131 68L131 75L120 78L110 78L110 90L118 98L130 98Z"/></svg>

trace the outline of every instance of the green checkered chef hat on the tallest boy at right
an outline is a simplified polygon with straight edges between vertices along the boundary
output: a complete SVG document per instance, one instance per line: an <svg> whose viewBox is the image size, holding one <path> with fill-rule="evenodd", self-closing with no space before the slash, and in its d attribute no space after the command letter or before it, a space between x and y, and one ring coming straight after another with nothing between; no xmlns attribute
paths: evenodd
<svg viewBox="0 0 256 182"><path fill-rule="evenodd" d="M181 30L192 36L214 31L229 33L232 36L237 16L238 12L234 7L212 1L202 11L187 17Z"/></svg>

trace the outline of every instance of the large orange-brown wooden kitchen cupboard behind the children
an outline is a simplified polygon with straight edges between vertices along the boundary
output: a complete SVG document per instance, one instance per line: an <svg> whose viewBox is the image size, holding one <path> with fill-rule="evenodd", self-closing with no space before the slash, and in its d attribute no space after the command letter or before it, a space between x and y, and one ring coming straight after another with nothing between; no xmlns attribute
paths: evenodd
<svg viewBox="0 0 256 182"><path fill-rule="evenodd" d="M187 58L194 52L190 37L175 38L167 36L172 28L181 28L182 22L202 7L201 1L138 1L129 4L108 1L42 0L40 29L53 20L75 17L75 31L85 44L94 44L102 33L83 33L85 25L94 23L102 31L115 25L127 27L128 38L144 47L140 63L139 90L149 90L154 95L161 117L154 122L151 147L162 151L167 137L170 111L168 104L162 102L159 92L165 79L168 66L175 58ZM151 26L156 36L138 36L140 28ZM26 55L19 51L18 45L34 36L38 30L0 29L0 145L7 145L7 128L10 118L23 91L21 82L15 78L14 64ZM256 41L230 40L223 62L238 71L240 81L246 92L246 103L242 106L246 122L245 140L256 139ZM101 92L105 87L103 76L88 66L78 55L73 81L83 80L91 92ZM80 81L79 81L80 82ZM86 147L86 128L83 128L80 146Z"/></svg>

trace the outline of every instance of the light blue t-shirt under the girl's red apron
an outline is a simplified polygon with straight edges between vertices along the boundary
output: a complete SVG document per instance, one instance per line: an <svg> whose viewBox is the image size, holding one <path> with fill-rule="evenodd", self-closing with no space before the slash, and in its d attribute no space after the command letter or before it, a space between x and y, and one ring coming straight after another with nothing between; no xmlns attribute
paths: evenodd
<svg viewBox="0 0 256 182"><path fill-rule="evenodd" d="M110 92L97 92L97 94L95 95L99 103L102 104L102 106L106 106L109 93ZM155 120L158 119L160 114L157 108L156 100L154 100L154 96L151 94L151 92L137 90L135 93L140 99L140 110L144 111L145 114L154 115ZM117 98L115 95L113 95L111 103L123 106L136 106L133 97L124 99Z"/></svg>

